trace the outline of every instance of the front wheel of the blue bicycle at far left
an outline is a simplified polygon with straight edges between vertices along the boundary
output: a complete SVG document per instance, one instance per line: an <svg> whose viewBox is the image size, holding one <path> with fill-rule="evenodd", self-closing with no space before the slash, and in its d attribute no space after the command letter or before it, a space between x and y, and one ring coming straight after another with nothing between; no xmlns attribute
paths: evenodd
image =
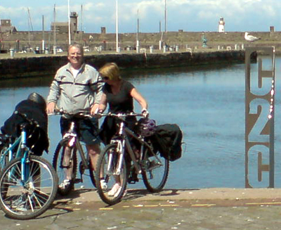
<svg viewBox="0 0 281 230"><path fill-rule="evenodd" d="M22 181L22 158L15 158L0 175L0 206L8 217L32 219L46 212L55 199L58 177L52 165L30 155Z"/></svg>

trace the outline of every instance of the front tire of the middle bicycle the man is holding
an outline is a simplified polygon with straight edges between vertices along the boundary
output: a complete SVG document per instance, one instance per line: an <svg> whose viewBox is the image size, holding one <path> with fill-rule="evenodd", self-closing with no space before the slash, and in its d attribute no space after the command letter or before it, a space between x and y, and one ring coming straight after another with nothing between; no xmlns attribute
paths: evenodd
<svg viewBox="0 0 281 230"><path fill-rule="evenodd" d="M63 139L58 143L58 146L55 148L55 154L53 155L53 167L55 172L58 174L58 193L62 196L67 196L70 191L74 189L74 183L77 175L77 149L75 147L71 147L71 151L74 151L72 163L72 179L70 180L70 184L68 186L60 186L66 178L66 168L62 167L63 157L65 155L65 147L67 146L68 139Z"/></svg>

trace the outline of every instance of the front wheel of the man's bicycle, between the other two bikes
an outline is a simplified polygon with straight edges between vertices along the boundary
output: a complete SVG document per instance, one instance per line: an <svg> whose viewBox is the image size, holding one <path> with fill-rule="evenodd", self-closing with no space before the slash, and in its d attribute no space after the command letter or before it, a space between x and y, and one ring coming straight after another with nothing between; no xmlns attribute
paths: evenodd
<svg viewBox="0 0 281 230"><path fill-rule="evenodd" d="M67 164L64 162L65 157L65 148L67 147L68 139L63 139L58 143L57 148L55 148L55 154L53 155L53 167L55 172L58 174L58 193L62 196L66 196L72 189L74 189L74 182L77 174L77 149L75 147L70 148L70 155L72 155L72 159ZM68 171L72 168L72 172ZM71 177L68 183L65 183L65 179L67 179L67 173L70 173L69 177Z"/></svg>

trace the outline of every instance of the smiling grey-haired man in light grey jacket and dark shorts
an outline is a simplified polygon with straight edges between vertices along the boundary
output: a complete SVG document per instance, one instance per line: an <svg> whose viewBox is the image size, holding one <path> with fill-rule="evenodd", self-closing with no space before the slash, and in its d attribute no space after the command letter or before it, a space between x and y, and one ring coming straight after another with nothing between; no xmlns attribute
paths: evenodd
<svg viewBox="0 0 281 230"><path fill-rule="evenodd" d="M69 63L60 68L53 80L47 98L47 113L53 113L58 100L59 108L66 113L90 112L93 115L98 108L102 96L103 79L98 71L84 63L83 48L79 44L72 44L67 51ZM62 134L69 129L70 117L60 118ZM98 154L100 153L100 140L98 139L98 120L86 118L79 121L79 136L86 143L86 148L91 159L91 166L95 170ZM66 151L66 153L70 151ZM68 159L69 161L69 159ZM70 184L71 173L60 186Z"/></svg>

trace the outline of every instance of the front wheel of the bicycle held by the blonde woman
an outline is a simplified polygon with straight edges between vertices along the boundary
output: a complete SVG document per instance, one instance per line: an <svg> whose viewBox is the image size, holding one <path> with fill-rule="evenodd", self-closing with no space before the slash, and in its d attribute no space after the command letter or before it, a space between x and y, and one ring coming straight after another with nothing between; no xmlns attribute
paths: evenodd
<svg viewBox="0 0 281 230"><path fill-rule="evenodd" d="M98 195L108 205L119 203L126 190L128 180L126 162L123 158L121 171L117 175L118 162L119 153L117 152L117 143L111 143L105 146L98 158L96 187L98 189ZM100 180L103 178L105 179L106 186L103 183L102 188ZM119 186L116 185L117 180L120 181Z"/></svg>

